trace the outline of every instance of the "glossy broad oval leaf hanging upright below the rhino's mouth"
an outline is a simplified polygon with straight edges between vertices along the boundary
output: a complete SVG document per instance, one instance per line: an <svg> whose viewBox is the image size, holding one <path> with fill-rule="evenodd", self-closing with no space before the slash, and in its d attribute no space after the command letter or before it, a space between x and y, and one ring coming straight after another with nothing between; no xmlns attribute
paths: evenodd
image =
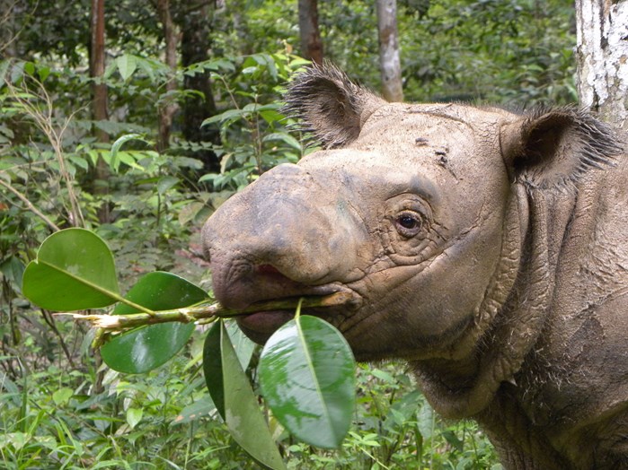
<svg viewBox="0 0 628 470"><path fill-rule="evenodd" d="M299 440L337 448L355 409L355 361L341 333L321 318L297 317L264 346L261 391L272 413Z"/></svg>

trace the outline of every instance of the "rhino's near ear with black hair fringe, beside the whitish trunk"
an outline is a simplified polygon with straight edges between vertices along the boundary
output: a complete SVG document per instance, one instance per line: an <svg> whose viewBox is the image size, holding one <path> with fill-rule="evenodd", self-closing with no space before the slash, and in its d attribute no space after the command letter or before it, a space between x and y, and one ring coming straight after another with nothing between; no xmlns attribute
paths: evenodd
<svg viewBox="0 0 628 470"><path fill-rule="evenodd" d="M556 187L622 153L610 126L574 108L536 109L500 129L501 152L514 178Z"/></svg>

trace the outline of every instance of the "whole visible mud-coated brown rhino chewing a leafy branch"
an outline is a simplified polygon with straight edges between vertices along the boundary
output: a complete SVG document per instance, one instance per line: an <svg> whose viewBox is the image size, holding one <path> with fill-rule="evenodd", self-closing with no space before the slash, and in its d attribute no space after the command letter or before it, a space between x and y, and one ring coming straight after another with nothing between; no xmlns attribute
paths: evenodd
<svg viewBox="0 0 628 470"><path fill-rule="evenodd" d="M336 68L289 86L323 150L206 223L214 292L349 292L358 361L408 361L507 468L628 468L628 158L578 109L386 103ZM290 311L239 320L263 343Z"/></svg>

